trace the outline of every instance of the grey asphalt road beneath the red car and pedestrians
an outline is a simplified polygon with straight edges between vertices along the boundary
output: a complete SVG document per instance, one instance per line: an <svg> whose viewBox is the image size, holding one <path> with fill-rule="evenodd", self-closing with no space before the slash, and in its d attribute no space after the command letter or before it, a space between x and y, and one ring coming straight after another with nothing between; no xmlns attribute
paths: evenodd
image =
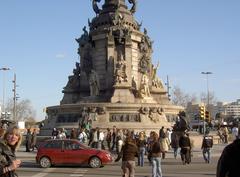
<svg viewBox="0 0 240 177"><path fill-rule="evenodd" d="M175 160L172 152L167 153L162 160L164 177L214 177L216 165L224 145L215 145L212 149L212 161L206 164L200 149L193 151L192 163L182 165L180 157ZM113 162L99 169L89 167L58 166L43 169L35 163L36 152L24 152L21 148L17 157L22 160L21 168L17 170L19 177L118 177L121 176L121 162ZM150 177L151 166L147 159L144 167L136 167L135 177Z"/></svg>

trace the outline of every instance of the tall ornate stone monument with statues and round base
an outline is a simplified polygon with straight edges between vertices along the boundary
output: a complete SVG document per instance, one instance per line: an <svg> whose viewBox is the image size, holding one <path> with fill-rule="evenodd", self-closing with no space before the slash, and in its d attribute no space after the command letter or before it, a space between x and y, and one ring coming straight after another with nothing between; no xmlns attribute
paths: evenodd
<svg viewBox="0 0 240 177"><path fill-rule="evenodd" d="M91 125L159 130L182 107L171 104L157 66L147 29L134 18L136 0L92 0L96 16L76 39L80 61L63 88L60 105L47 107L43 134L53 127Z"/></svg>

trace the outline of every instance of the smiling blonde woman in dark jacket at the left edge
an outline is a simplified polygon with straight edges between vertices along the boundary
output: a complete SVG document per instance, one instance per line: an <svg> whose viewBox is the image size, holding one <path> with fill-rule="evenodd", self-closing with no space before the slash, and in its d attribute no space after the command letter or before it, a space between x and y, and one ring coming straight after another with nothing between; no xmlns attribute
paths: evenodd
<svg viewBox="0 0 240 177"><path fill-rule="evenodd" d="M0 140L0 176L17 176L15 170L20 166L21 160L16 158L15 151L20 146L21 140L20 130L16 126L8 127Z"/></svg>

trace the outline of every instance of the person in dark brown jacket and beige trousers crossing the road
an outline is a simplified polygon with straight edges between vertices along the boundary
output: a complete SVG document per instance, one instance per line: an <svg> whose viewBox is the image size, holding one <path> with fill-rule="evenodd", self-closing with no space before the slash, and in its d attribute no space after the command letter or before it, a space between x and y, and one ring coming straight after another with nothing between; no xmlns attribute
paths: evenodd
<svg viewBox="0 0 240 177"><path fill-rule="evenodd" d="M138 156L138 148L133 138L128 134L121 152L118 154L115 162L122 158L122 177L135 176L135 157Z"/></svg>

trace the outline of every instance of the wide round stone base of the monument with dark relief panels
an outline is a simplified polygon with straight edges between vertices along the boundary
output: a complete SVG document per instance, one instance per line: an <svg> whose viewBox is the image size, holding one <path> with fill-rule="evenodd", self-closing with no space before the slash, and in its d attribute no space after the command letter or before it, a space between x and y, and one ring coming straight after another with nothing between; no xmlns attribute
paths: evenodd
<svg viewBox="0 0 240 177"><path fill-rule="evenodd" d="M51 135L52 129L79 128L83 122L90 120L93 128L131 129L136 132L159 131L171 127L168 117L176 115L181 107L160 105L156 103L78 103L64 104L47 108L48 118L45 119L41 135ZM172 119L169 119L172 120Z"/></svg>

